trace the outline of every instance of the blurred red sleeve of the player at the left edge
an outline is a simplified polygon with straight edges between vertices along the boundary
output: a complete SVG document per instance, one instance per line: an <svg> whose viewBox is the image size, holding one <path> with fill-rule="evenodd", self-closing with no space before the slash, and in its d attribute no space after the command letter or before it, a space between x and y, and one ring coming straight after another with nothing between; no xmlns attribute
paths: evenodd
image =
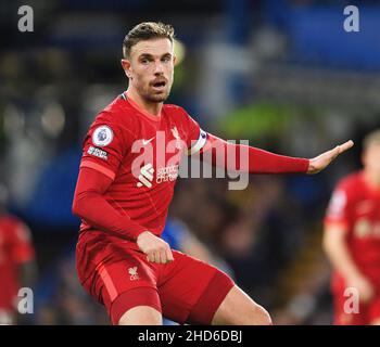
<svg viewBox="0 0 380 347"><path fill-rule="evenodd" d="M11 256L15 262L21 264L29 261L35 257L30 231L24 223L15 222L10 237Z"/></svg>

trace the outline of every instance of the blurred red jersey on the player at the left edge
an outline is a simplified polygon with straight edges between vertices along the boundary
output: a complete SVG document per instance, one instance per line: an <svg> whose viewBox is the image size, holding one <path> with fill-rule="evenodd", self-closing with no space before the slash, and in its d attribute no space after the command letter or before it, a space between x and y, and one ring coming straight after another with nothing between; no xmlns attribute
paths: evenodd
<svg viewBox="0 0 380 347"><path fill-rule="evenodd" d="M20 290L17 266L34 255L28 228L15 217L0 217L0 310L14 310Z"/></svg>

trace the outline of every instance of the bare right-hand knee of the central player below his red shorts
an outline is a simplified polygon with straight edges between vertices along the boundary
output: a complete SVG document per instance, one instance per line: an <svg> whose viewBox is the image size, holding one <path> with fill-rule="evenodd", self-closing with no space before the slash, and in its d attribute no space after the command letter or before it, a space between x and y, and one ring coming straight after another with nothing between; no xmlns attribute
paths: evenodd
<svg viewBox="0 0 380 347"><path fill-rule="evenodd" d="M269 325L271 320L262 306L235 285L216 310L212 323L215 325Z"/></svg>

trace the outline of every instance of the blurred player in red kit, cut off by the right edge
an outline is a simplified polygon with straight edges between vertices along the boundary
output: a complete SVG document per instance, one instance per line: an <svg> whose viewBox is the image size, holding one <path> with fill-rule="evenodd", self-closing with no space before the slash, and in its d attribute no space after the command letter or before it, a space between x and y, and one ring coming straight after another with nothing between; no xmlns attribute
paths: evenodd
<svg viewBox="0 0 380 347"><path fill-rule="evenodd" d="M380 130L363 147L364 169L338 183L325 218L335 324L380 324ZM357 310L346 288L358 294Z"/></svg>

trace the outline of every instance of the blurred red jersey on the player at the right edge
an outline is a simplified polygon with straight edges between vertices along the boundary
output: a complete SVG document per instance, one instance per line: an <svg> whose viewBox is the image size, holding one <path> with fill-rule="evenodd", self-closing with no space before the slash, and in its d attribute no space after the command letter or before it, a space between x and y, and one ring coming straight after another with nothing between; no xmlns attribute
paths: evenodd
<svg viewBox="0 0 380 347"><path fill-rule="evenodd" d="M342 223L359 270L380 286L380 190L371 189L363 171L341 180L330 201L326 223Z"/></svg>

